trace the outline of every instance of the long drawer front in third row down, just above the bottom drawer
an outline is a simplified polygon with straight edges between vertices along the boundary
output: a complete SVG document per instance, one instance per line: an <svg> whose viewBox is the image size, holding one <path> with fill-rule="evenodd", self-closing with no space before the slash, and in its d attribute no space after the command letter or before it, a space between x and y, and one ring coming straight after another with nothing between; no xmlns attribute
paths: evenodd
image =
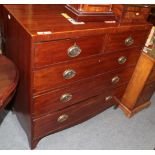
<svg viewBox="0 0 155 155"><path fill-rule="evenodd" d="M110 87L117 87L127 83L133 70L134 67L130 67L108 72L35 97L33 115L38 117L42 114L63 109L92 96L102 94ZM119 77L119 81L112 83L112 79L115 77Z"/></svg>

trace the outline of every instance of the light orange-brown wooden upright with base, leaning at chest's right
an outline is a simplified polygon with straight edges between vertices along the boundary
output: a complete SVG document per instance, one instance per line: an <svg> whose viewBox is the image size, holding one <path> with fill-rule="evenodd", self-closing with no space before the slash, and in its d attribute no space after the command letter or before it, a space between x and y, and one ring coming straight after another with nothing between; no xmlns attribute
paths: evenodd
<svg viewBox="0 0 155 155"><path fill-rule="evenodd" d="M154 62L155 59L152 56L142 52L119 105L127 117L131 117L134 113L150 105L150 102L146 102L135 107L137 99L152 71Z"/></svg>

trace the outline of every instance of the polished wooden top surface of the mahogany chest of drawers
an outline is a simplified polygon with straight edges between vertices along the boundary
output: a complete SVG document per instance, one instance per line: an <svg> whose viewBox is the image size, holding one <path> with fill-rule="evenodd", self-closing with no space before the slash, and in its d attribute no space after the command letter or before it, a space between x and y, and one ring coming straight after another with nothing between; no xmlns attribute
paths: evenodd
<svg viewBox="0 0 155 155"><path fill-rule="evenodd" d="M46 41L54 39L63 39L69 37L80 37L83 35L98 35L106 31L116 32L130 29L133 24L120 25L118 23L104 22L85 22L85 24L74 25L69 22L62 13L65 13L65 7L62 4L54 5L4 5L15 20L31 36L32 41ZM148 28L148 24L135 25L134 29L139 27ZM38 32L51 32L51 34L39 35Z"/></svg>

